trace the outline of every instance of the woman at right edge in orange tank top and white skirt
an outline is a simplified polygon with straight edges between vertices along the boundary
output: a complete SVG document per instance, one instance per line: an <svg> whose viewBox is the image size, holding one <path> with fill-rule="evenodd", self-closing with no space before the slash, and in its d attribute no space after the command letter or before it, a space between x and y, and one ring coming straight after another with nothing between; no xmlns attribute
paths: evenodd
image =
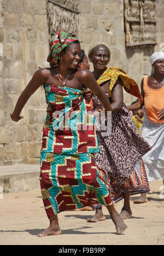
<svg viewBox="0 0 164 256"><path fill-rule="evenodd" d="M150 56L151 75L141 82L144 119L142 136L150 144L151 151L144 155L148 181L163 180L164 185L164 53ZM148 202L147 194L134 203Z"/></svg>

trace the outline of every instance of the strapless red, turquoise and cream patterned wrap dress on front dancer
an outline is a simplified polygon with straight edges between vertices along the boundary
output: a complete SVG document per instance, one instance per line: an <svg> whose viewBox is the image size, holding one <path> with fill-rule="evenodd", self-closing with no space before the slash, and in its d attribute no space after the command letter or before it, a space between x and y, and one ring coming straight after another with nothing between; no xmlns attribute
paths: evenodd
<svg viewBox="0 0 164 256"><path fill-rule="evenodd" d="M112 205L100 178L95 119L84 94L66 86L44 85L47 116L40 156L40 186L49 219L63 210L101 203Z"/></svg>

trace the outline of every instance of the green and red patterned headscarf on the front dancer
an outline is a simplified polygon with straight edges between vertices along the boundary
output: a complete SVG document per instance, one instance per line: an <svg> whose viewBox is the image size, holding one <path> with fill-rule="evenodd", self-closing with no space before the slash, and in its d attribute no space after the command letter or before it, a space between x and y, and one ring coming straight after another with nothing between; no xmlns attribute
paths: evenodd
<svg viewBox="0 0 164 256"><path fill-rule="evenodd" d="M61 52L73 41L77 41L78 38L74 33L67 33L60 30L50 41L50 53L48 55L47 61L50 66L55 66L58 60L61 59Z"/></svg>

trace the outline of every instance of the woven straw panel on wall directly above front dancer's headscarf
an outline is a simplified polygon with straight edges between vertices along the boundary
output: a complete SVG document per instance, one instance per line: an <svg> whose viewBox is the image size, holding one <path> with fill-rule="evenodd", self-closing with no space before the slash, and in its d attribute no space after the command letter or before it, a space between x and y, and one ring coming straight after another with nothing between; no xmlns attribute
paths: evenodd
<svg viewBox="0 0 164 256"><path fill-rule="evenodd" d="M79 0L48 0L46 13L49 35L52 37L60 29L78 34Z"/></svg>

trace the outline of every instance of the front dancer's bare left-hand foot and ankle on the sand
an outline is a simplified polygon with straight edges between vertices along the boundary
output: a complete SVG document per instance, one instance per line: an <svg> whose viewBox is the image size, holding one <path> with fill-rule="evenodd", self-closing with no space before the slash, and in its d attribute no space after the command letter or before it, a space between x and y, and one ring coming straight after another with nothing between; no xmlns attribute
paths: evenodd
<svg viewBox="0 0 164 256"><path fill-rule="evenodd" d="M50 220L50 226L48 227L48 229L45 229L43 232L39 233L37 236L42 237L42 236L50 236L50 235L61 235L61 229L60 229L60 226L58 225L57 215L54 219Z"/></svg>

